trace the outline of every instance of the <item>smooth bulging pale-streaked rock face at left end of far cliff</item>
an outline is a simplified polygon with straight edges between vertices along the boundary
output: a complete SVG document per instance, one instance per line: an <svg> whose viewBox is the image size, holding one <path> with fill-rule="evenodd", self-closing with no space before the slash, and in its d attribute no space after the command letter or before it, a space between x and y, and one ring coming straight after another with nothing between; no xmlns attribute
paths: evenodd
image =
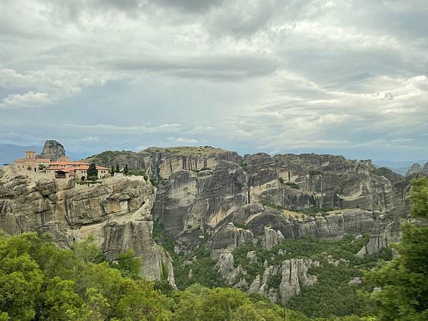
<svg viewBox="0 0 428 321"><path fill-rule="evenodd" d="M198 173L180 170L160 186L153 215L175 236L178 250L188 251L199 235L248 203L246 182L240 165L230 161Z"/></svg>

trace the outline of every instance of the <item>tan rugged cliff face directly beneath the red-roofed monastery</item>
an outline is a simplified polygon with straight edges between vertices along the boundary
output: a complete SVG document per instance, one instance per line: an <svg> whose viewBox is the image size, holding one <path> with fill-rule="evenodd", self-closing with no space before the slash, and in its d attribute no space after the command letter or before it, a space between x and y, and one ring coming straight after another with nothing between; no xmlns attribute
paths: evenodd
<svg viewBox="0 0 428 321"><path fill-rule="evenodd" d="M31 181L25 175L0 172L0 228L9 234L36 230L54 235L58 245L69 247L93 235L108 258L127 248L143 258L141 274L161 277L168 253L153 240L151 208L155 190L142 177L106 178L88 187L72 180Z"/></svg>

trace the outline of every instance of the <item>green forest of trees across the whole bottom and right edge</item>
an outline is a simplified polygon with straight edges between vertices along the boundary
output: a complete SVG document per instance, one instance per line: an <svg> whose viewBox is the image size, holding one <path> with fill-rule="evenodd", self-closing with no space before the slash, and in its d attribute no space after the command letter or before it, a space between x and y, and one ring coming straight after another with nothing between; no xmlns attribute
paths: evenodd
<svg viewBox="0 0 428 321"><path fill-rule="evenodd" d="M412 217L419 223L403 223L395 255L384 250L357 258L367 235L284 240L270 250L236 249L236 264L245 266L249 280L260 273L260 265L246 260L248 250L262 261L321 261L311 270L317 284L304 287L285 306L224 287L203 246L192 253L193 284L183 277L188 257L174 256L179 290L173 290L168 271L156 282L141 278L141 259L131 250L110 261L91 239L62 249L47 234L1 235L0 320L427 320L428 228L420 223L428 217L426 179L414 180L412 202ZM153 235L173 253L173 241L161 225L155 225ZM271 255L279 250L284 254ZM337 264L327 264L327 258ZM362 286L350 285L352 277L361 277Z"/></svg>

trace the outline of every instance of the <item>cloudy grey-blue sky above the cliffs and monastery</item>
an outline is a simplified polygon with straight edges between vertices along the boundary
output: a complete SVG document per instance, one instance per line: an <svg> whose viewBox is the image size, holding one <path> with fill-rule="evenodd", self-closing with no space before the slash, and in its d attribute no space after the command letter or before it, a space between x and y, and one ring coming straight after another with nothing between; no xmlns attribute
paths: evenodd
<svg viewBox="0 0 428 321"><path fill-rule="evenodd" d="M0 0L0 143L428 158L426 0Z"/></svg>

